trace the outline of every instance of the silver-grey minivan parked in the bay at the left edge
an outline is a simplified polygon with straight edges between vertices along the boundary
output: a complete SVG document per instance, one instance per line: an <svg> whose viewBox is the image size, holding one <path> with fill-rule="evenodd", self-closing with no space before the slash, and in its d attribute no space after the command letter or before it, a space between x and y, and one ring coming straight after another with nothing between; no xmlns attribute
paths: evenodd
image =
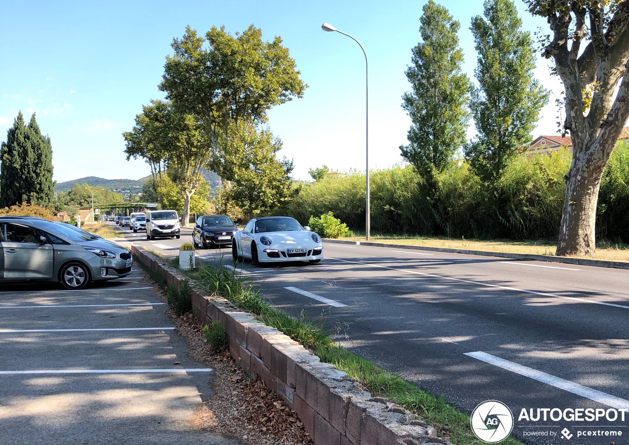
<svg viewBox="0 0 629 445"><path fill-rule="evenodd" d="M0 283L58 282L70 290L127 276L133 263L118 244L34 217L0 217L0 255Z"/></svg>

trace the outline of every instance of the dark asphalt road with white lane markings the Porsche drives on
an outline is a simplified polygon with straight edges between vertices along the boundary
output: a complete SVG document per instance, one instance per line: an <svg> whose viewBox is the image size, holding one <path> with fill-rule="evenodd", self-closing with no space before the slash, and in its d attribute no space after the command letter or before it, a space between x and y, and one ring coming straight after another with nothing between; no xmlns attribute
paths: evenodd
<svg viewBox="0 0 629 445"><path fill-rule="evenodd" d="M185 240L133 242L176 249ZM225 264L229 255L199 251L208 261L225 256ZM513 435L528 443L629 442L629 414L618 411L629 408L625 270L330 243L320 264L242 267L274 305L325 314L343 346L456 407L505 403ZM553 421L548 412L546 422L534 422L518 420L522 408L604 414L588 421L581 411L577 421L568 411ZM605 431L623 435L610 439Z"/></svg>

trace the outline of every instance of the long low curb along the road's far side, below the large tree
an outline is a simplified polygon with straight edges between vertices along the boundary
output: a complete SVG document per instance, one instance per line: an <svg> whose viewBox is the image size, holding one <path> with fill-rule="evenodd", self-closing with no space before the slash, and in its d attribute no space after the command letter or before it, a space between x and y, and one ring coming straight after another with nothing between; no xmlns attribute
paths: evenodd
<svg viewBox="0 0 629 445"><path fill-rule="evenodd" d="M371 247L394 247L395 249L409 249L413 251L446 252L449 254L468 254L468 255L482 255L482 256L493 256L493 257L501 257L501 258L511 258L511 259L528 259L528 260L534 260L534 261L563 262L565 264L577 264L579 266L594 266L597 268L629 269L629 261L610 261L610 260L605 260L605 259L555 257L555 256L550 256L550 255L536 255L536 254L512 254L509 252L472 251L469 249L449 249L448 247L429 247L429 246L424 246L424 245L409 245L409 244L387 244L384 242L346 241L346 240L327 239L327 238L323 239L323 242L329 242L333 244L369 245Z"/></svg>

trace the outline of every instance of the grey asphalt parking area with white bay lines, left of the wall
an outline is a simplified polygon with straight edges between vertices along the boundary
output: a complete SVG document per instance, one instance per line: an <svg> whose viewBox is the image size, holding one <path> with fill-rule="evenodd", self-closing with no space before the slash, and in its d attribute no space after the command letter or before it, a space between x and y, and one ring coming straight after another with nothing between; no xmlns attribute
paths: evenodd
<svg viewBox="0 0 629 445"><path fill-rule="evenodd" d="M238 443L190 424L212 373L142 274L81 291L2 286L0 443Z"/></svg>

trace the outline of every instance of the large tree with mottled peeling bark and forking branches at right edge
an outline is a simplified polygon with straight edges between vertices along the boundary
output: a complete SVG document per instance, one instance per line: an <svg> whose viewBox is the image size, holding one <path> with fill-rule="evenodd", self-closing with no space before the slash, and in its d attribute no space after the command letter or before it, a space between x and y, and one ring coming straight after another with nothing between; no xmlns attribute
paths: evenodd
<svg viewBox="0 0 629 445"><path fill-rule="evenodd" d="M550 25L543 56L564 84L563 125L572 138L557 255L592 256L601 179L629 120L629 1L526 3Z"/></svg>

